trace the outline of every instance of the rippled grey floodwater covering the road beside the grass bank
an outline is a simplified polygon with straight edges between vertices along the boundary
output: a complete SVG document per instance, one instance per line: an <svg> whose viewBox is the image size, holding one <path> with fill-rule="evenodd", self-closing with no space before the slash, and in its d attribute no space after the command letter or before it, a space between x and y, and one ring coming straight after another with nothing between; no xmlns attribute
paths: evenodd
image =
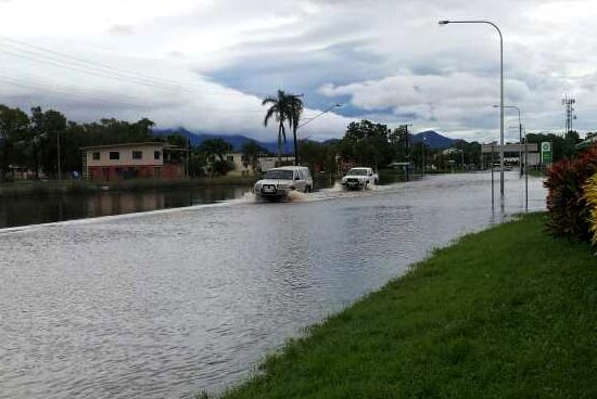
<svg viewBox="0 0 597 399"><path fill-rule="evenodd" d="M0 230L0 398L192 398L408 265L524 210L506 173ZM545 208L530 179L529 208ZM496 185L496 195L499 192Z"/></svg>

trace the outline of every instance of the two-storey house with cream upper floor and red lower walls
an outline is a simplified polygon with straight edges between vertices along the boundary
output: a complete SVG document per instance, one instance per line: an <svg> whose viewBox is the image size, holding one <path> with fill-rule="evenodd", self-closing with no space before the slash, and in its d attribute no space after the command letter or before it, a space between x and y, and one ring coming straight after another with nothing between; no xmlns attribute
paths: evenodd
<svg viewBox="0 0 597 399"><path fill-rule="evenodd" d="M182 178L186 176L189 151L163 142L98 145L80 150L84 178L92 181Z"/></svg>

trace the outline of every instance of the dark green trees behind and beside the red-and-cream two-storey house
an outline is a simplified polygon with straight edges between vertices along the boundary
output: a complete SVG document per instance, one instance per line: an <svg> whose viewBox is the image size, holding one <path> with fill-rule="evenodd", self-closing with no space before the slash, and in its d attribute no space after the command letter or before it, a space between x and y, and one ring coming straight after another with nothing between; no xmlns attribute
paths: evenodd
<svg viewBox="0 0 597 399"><path fill-rule="evenodd" d="M191 146L189 139L178 132L154 133L154 125L148 118L135 123L103 118L78 124L54 110L43 111L36 106L27 114L20 108L0 105L0 181L10 180L15 168L30 170L35 179L39 179L41 173L58 178L59 146L61 170L69 172L81 171L82 147L135 142L167 142L190 149L188 159L179 156L174 160L188 162L189 175L193 177L226 175L230 170L225 154L232 151L232 145L225 140L204 140L200 145ZM255 165L257 156L265 151L249 142L243 152Z"/></svg>

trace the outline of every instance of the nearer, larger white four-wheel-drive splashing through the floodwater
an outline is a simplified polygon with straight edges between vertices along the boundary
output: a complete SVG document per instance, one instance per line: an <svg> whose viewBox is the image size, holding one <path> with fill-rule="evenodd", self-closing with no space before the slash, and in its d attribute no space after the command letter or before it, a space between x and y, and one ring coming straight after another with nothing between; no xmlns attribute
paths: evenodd
<svg viewBox="0 0 597 399"><path fill-rule="evenodd" d="M282 200L292 191L313 191L313 178L305 166L282 166L266 171L253 191L258 198Z"/></svg>

